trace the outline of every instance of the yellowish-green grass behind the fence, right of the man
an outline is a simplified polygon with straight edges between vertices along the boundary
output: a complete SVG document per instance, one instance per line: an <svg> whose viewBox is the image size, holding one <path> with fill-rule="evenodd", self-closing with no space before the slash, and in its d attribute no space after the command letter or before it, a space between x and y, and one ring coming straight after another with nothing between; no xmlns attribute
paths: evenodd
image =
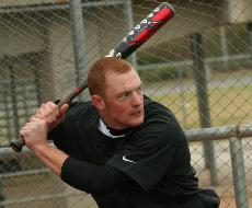
<svg viewBox="0 0 252 208"><path fill-rule="evenodd" d="M208 94L211 126L252 122L252 83L209 89ZM186 91L183 96L177 92L171 92L169 95L152 97L168 106L185 129L201 126L195 91Z"/></svg>

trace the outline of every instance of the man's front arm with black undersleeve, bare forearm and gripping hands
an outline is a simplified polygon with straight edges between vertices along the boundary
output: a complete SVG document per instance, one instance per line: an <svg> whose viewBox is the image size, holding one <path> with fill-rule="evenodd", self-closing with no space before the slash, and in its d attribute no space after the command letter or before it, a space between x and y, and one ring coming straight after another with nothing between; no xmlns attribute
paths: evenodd
<svg viewBox="0 0 252 208"><path fill-rule="evenodd" d="M51 109L51 106L53 109ZM53 112L51 112L53 111ZM48 114L48 115L47 115ZM51 115L53 114L53 115ZM78 189L101 194L133 182L111 165L98 166L69 157L47 141L51 124L58 123L60 111L51 103L43 105L28 123L20 130L25 145L54 173Z"/></svg>

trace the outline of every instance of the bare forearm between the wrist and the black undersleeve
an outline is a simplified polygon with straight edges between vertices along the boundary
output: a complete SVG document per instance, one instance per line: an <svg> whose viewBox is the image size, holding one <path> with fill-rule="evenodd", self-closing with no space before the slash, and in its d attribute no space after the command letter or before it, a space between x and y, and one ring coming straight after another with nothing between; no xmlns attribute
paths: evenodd
<svg viewBox="0 0 252 208"><path fill-rule="evenodd" d="M49 143L39 143L33 149L34 154L55 174L61 174L65 160L69 157Z"/></svg>

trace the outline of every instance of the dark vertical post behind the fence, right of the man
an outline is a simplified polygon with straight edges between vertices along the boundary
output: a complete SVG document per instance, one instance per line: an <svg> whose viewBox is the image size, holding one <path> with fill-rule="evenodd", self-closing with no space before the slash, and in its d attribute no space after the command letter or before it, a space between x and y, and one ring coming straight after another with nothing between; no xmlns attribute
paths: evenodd
<svg viewBox="0 0 252 208"><path fill-rule="evenodd" d="M192 35L193 70L196 82L197 103L199 107L199 120L203 128L210 127L210 114L208 105L206 70L204 66L204 53L202 47L202 35ZM210 171L211 185L217 184L217 172L213 141L204 141L205 166Z"/></svg>

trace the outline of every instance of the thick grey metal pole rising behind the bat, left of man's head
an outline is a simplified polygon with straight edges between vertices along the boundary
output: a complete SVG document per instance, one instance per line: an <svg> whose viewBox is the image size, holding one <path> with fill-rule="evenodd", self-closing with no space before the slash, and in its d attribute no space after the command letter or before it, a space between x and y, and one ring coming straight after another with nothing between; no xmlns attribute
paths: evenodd
<svg viewBox="0 0 252 208"><path fill-rule="evenodd" d="M71 32L73 41L73 53L76 62L76 84L79 86L84 80L87 74L85 66L85 50L84 50L84 26L82 16L81 0L69 1L70 14L71 14ZM88 93L82 92L78 97L80 101L84 101Z"/></svg>

